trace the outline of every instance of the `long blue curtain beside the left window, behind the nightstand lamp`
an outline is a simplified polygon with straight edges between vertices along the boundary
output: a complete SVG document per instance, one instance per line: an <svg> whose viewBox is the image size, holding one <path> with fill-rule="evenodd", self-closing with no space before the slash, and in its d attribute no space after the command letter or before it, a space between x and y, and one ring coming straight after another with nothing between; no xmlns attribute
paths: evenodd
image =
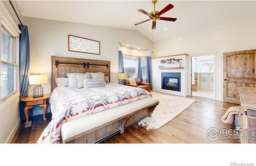
<svg viewBox="0 0 256 166"><path fill-rule="evenodd" d="M19 25L20 33L20 100L28 96L28 75L30 66L30 51L28 27ZM25 102L20 101L20 120L25 120Z"/></svg>

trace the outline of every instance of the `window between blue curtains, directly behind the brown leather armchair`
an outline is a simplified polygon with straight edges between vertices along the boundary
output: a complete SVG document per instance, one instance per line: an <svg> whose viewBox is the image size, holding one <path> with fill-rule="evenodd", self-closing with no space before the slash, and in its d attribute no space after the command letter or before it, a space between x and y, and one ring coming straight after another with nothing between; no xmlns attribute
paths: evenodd
<svg viewBox="0 0 256 166"><path fill-rule="evenodd" d="M124 59L124 73L127 78L136 78L136 64L137 60Z"/></svg>

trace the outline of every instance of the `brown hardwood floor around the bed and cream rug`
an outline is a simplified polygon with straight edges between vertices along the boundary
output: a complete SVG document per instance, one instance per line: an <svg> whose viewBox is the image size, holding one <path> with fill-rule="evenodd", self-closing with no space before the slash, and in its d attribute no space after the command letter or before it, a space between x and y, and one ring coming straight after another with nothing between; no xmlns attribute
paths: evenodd
<svg viewBox="0 0 256 166"><path fill-rule="evenodd" d="M128 127L124 133L116 134L101 143L240 143L238 139L218 139L210 141L206 137L208 129L235 129L234 124L228 125L221 121L222 115L229 107L236 104L216 101L209 98L188 96L197 101L185 109L180 115L159 129L149 129L138 125ZM42 131L51 120L43 115L34 116L31 127L20 124L11 143L36 143Z"/></svg>

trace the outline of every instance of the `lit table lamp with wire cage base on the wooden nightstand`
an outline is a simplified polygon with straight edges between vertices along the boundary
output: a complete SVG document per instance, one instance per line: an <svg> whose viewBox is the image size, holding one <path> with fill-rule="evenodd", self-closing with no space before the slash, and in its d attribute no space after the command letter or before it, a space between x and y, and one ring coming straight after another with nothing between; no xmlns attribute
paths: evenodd
<svg viewBox="0 0 256 166"><path fill-rule="evenodd" d="M28 76L28 83L30 85L36 85L36 87L33 88L33 98L40 98L44 96L44 88L41 86L41 84L47 84L48 83L48 75L29 75Z"/></svg>

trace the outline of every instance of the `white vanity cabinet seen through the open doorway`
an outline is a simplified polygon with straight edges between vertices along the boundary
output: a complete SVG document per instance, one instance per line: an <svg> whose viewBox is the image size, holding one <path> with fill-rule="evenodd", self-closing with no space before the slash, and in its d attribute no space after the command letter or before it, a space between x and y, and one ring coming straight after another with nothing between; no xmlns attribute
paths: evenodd
<svg viewBox="0 0 256 166"><path fill-rule="evenodd" d="M200 89L213 90L213 73L200 73Z"/></svg>

